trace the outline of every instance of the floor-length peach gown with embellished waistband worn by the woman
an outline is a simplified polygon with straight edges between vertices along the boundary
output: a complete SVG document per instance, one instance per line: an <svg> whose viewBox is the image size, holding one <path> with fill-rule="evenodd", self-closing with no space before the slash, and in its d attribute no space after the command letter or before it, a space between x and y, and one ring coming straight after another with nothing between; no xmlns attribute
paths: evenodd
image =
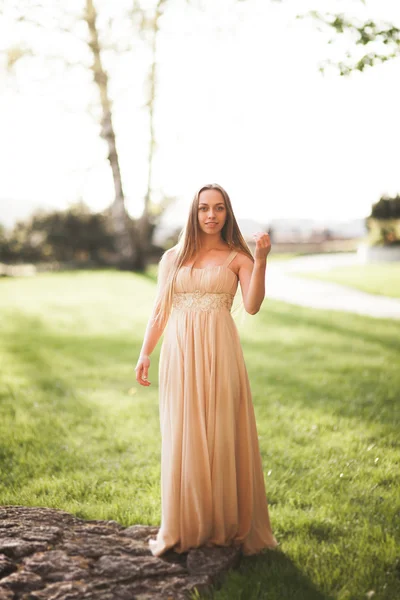
<svg viewBox="0 0 400 600"><path fill-rule="evenodd" d="M161 527L173 548L278 545L269 519L247 370L230 309L238 287L224 264L177 275L159 362Z"/></svg>

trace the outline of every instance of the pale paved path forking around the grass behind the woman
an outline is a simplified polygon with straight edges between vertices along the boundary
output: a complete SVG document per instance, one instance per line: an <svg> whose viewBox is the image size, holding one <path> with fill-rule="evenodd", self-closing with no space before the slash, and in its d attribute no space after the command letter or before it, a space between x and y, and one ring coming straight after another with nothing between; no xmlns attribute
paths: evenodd
<svg viewBox="0 0 400 600"><path fill-rule="evenodd" d="M361 292L337 283L303 279L296 272L329 270L360 264L355 253L317 254L270 262L267 266L266 296L289 304L341 310L370 317L400 319L400 300Z"/></svg>

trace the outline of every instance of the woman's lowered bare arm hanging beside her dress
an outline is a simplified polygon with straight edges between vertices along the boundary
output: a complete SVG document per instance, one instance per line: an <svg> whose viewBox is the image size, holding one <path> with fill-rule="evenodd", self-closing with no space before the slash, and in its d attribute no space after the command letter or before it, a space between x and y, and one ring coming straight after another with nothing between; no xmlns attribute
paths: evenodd
<svg viewBox="0 0 400 600"><path fill-rule="evenodd" d="M155 316L159 309L159 302L164 293L165 284L168 278L169 269L171 266L171 253L167 252L163 255L159 266L158 266L158 277L157 277L157 298L154 303L153 311L150 316L149 322L147 323L146 331L144 334L142 349L138 358L136 371L136 381L143 386L149 386L148 373L150 368L150 355L154 348L157 346L158 340L163 334L167 320L159 321L155 320Z"/></svg>

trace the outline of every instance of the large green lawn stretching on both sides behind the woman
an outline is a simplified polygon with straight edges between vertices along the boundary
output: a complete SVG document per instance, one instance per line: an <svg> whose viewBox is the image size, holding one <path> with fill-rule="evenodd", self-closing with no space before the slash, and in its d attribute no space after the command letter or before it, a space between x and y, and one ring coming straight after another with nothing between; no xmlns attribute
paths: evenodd
<svg viewBox="0 0 400 600"><path fill-rule="evenodd" d="M154 277L0 281L0 504L160 523ZM400 598L400 323L266 300L238 323L275 551L215 600ZM369 596L367 594L371 592Z"/></svg>

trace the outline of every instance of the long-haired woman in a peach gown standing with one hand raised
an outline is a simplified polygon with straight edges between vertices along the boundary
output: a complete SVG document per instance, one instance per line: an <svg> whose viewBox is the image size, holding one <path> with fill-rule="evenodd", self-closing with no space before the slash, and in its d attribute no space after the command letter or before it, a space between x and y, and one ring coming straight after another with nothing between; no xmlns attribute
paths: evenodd
<svg viewBox="0 0 400 600"><path fill-rule="evenodd" d="M149 386L150 355L165 329L159 362L162 519L149 541L155 556L211 545L240 546L250 555L278 545L230 313L238 282L248 313L256 314L263 302L271 243L266 233L255 239L253 259L228 194L206 185L193 199L178 244L159 264L158 294L135 369L137 381Z"/></svg>

